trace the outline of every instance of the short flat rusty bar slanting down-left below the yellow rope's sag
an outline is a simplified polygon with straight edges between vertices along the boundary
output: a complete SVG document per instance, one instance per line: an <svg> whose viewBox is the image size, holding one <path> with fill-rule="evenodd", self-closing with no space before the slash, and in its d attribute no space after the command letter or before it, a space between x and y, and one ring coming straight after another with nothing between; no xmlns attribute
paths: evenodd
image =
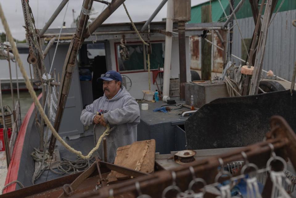
<svg viewBox="0 0 296 198"><path fill-rule="evenodd" d="M71 184L70 184L70 189L72 190L72 192L68 192L68 195L71 195L72 193L74 193L74 191L78 188L78 186L84 181L86 180L95 170L97 169L97 163L94 162L92 163L92 165L86 169L84 172L82 172ZM66 185L66 184L64 184ZM62 194L59 196L59 198L61 197L66 197L68 196L66 192L62 192Z"/></svg>

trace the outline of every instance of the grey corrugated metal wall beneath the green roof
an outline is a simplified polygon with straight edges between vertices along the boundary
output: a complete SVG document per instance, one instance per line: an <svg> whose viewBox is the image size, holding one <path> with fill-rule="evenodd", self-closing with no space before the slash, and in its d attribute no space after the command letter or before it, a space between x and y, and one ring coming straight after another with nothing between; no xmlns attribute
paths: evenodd
<svg viewBox="0 0 296 198"><path fill-rule="evenodd" d="M273 14L274 16L274 14ZM296 19L296 10L279 12L269 27L263 69L272 70L275 75L287 80L292 79L296 61L296 27L292 20ZM255 24L253 17L238 19L243 38L252 38ZM235 21L234 21L235 24ZM241 57L241 36L238 27L233 33L232 54ZM249 47L249 46L247 46ZM240 60L233 58L237 65ZM264 75L266 75L264 73Z"/></svg>

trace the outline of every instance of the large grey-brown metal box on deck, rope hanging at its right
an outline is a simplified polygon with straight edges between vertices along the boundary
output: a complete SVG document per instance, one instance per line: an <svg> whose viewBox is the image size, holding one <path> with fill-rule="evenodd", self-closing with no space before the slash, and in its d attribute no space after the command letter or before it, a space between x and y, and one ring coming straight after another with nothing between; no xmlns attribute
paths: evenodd
<svg viewBox="0 0 296 198"><path fill-rule="evenodd" d="M191 95L194 98L194 106L198 108L217 98L229 97L223 81L212 81L211 83L209 80L200 83L186 83L185 100L188 105L191 103Z"/></svg>

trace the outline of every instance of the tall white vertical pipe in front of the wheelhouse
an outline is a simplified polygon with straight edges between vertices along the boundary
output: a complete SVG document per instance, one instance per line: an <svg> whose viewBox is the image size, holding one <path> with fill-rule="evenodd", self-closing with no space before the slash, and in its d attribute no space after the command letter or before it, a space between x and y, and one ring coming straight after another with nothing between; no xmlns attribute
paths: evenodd
<svg viewBox="0 0 296 198"><path fill-rule="evenodd" d="M166 31L173 31L173 0L167 1L167 21ZM171 55L172 55L172 37L166 36L165 53L164 53L164 71L163 71L163 96L170 93L170 78L171 78Z"/></svg>

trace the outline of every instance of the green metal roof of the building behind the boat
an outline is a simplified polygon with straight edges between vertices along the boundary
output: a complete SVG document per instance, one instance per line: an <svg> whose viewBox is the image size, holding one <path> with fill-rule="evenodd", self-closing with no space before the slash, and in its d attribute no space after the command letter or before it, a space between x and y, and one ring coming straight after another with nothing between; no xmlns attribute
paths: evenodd
<svg viewBox="0 0 296 198"><path fill-rule="evenodd" d="M223 9L225 10L226 14L229 15L229 1L228 0L220 0ZM234 1L234 7L240 2L240 0ZM278 0L278 4L274 10L276 12L278 10L278 7L280 6L282 0ZM259 1L259 4L261 3L261 0ZM192 6L191 7L191 21L188 23L201 23L201 7L205 5L210 5L210 1L204 2L202 4ZM212 5L212 20L213 22L221 22L225 21L225 16L223 13L223 10L220 6L220 3L218 0L211 0ZM295 10L296 9L296 0L284 0L284 3L279 10L279 12L288 11L288 10ZM250 6L249 1L245 0L243 6L241 9L236 13L236 18L247 18L252 17L252 9Z"/></svg>

